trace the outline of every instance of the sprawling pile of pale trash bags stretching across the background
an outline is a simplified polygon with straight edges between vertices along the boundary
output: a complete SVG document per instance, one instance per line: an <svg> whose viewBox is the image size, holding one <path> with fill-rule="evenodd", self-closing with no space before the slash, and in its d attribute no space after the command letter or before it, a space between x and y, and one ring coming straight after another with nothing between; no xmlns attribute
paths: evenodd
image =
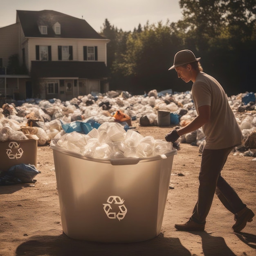
<svg viewBox="0 0 256 256"><path fill-rule="evenodd" d="M251 149L256 148L255 98L253 92L228 97L243 133L243 145L236 150L252 156L255 153ZM172 90L151 90L144 95L109 91L106 94L79 96L70 101L27 99L17 101L16 105L6 103L0 108L0 141L34 137L38 139L38 145L45 145L65 134L63 124L73 122L90 124L88 132L95 128L92 122L98 127L104 123L119 122L126 131L131 121L135 120L141 126L157 126L157 112L160 110L170 112L171 126L185 126L197 115L191 91L173 93ZM202 150L202 129L181 136L179 142L198 146L199 151Z"/></svg>

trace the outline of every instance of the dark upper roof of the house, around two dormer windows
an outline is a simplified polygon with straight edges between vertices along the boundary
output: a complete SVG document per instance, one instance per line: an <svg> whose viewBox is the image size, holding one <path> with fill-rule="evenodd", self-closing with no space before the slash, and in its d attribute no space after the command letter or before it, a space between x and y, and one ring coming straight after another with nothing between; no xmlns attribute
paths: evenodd
<svg viewBox="0 0 256 256"><path fill-rule="evenodd" d="M18 18L25 37L106 39L98 34L85 20L58 11L17 10L16 22L18 22ZM53 30L53 25L56 22L61 25L60 35L56 35ZM47 35L40 33L38 28L40 25L47 26Z"/></svg>

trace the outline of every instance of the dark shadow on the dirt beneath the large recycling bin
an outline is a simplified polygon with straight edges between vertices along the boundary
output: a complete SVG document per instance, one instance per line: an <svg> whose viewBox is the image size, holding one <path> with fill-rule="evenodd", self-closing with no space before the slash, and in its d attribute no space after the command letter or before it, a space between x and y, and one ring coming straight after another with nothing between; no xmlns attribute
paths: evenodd
<svg viewBox="0 0 256 256"><path fill-rule="evenodd" d="M137 243L96 243L74 240L64 233L60 236L34 236L16 249L16 255L58 255L58 256L164 256L191 253L180 243L179 238L164 238L161 233L154 239Z"/></svg>

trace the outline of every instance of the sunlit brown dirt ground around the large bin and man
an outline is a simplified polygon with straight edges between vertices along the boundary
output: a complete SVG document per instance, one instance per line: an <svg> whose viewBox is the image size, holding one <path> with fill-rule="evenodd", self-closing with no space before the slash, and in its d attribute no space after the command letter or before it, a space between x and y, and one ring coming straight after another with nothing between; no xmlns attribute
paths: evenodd
<svg viewBox="0 0 256 256"><path fill-rule="evenodd" d="M164 139L171 127L132 126L141 135ZM137 243L96 243L74 240L62 231L53 152L37 151L38 174L34 184L0 186L0 256L119 256L119 255L256 255L256 218L240 233L231 229L234 215L214 196L204 232L177 231L186 222L197 200L201 155L197 146L181 144L174 156L162 223L156 238ZM253 157L229 155L222 171L240 198L256 213L256 162Z"/></svg>

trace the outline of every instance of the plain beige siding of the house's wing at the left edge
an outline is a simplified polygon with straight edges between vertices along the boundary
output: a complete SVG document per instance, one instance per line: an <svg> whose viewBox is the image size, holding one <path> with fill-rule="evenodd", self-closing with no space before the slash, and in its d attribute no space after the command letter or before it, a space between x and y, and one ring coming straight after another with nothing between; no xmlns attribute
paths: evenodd
<svg viewBox="0 0 256 256"><path fill-rule="evenodd" d="M4 67L7 67L9 57L18 54L18 24L0 28L0 58Z"/></svg>

